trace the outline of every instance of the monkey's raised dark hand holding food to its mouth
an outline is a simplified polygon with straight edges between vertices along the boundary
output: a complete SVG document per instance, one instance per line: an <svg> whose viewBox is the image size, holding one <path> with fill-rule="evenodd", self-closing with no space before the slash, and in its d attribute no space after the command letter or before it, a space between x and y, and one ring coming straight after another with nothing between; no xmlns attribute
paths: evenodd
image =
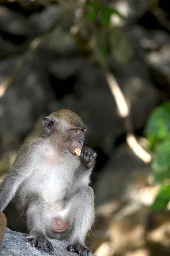
<svg viewBox="0 0 170 256"><path fill-rule="evenodd" d="M80 158L87 169L90 169L94 165L96 156L97 154L93 149L82 148Z"/></svg>

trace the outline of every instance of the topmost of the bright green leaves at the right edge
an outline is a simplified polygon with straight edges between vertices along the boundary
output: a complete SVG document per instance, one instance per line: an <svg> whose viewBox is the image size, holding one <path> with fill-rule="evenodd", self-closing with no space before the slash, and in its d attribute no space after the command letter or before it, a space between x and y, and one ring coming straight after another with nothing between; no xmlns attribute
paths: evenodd
<svg viewBox="0 0 170 256"><path fill-rule="evenodd" d="M150 142L150 150L154 150L156 144L170 137L170 101L153 111L147 122L145 134Z"/></svg>

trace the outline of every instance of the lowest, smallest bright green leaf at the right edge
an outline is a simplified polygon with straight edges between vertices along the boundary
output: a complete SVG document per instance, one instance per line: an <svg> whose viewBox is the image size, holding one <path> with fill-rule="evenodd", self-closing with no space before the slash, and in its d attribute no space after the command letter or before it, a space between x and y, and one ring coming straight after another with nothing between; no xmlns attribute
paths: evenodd
<svg viewBox="0 0 170 256"><path fill-rule="evenodd" d="M170 200L170 185L162 184L161 189L154 201L150 206L151 210L165 209Z"/></svg>

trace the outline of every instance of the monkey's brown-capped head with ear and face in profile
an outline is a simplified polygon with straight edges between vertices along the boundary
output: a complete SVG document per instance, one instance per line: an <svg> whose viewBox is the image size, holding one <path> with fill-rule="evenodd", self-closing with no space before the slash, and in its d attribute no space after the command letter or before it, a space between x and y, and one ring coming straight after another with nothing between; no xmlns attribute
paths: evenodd
<svg viewBox="0 0 170 256"><path fill-rule="evenodd" d="M87 129L82 119L73 111L60 109L43 118L43 127L47 134L58 143L64 144L71 154L75 148L82 148L84 133Z"/></svg>

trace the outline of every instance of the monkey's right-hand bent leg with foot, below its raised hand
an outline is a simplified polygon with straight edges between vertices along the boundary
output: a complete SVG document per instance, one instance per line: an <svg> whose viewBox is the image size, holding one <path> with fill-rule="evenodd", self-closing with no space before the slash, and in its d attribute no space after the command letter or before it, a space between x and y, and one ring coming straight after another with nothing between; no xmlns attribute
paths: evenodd
<svg viewBox="0 0 170 256"><path fill-rule="evenodd" d="M90 250L85 247L85 236L94 222L94 192L90 186L81 190L71 198L71 215L69 217L73 230L70 237L68 251L78 253L79 256L89 256Z"/></svg>

